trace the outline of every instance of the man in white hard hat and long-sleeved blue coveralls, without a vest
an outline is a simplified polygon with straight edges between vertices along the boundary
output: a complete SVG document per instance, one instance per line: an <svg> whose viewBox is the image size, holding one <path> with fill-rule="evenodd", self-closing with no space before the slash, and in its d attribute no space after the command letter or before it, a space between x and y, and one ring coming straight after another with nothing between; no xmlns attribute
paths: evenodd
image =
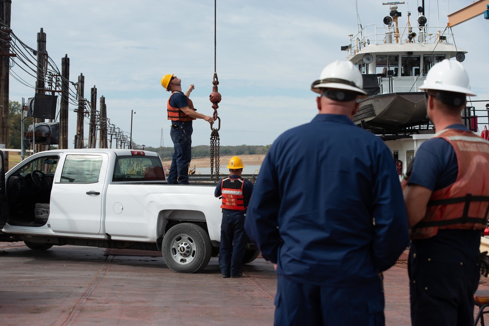
<svg viewBox="0 0 489 326"><path fill-rule="evenodd" d="M384 325L382 272L408 243L392 155L355 126L362 75L336 61L312 84L318 114L282 133L245 229L278 274L275 325Z"/></svg>

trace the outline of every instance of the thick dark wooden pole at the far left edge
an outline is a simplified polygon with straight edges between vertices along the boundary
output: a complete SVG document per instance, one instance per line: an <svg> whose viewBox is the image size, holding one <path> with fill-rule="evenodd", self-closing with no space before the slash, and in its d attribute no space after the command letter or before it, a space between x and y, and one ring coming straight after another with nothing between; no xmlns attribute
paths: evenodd
<svg viewBox="0 0 489 326"><path fill-rule="evenodd" d="M15 54L10 53L10 9L11 0L2 1L0 4L0 18L4 26L0 27L0 40L3 49L0 49L0 144L4 144L8 148L8 92L9 92L9 69L10 57ZM5 172L8 171L8 152L4 153Z"/></svg>

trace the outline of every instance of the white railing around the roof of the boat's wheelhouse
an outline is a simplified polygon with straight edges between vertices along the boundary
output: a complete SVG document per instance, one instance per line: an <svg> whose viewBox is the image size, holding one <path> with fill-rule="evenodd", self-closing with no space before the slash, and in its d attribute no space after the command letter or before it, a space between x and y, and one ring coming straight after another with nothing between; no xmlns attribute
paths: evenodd
<svg viewBox="0 0 489 326"><path fill-rule="evenodd" d="M424 27L377 27L376 24L365 25L356 35L350 34L349 55L355 55L370 44L400 43L450 43L453 44L453 33L446 26Z"/></svg>

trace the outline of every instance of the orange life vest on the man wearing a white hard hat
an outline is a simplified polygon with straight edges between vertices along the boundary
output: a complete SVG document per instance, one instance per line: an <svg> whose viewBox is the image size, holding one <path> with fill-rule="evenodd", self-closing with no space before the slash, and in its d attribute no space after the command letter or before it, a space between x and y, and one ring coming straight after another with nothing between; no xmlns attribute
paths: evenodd
<svg viewBox="0 0 489 326"><path fill-rule="evenodd" d="M426 215L411 230L411 239L428 239L439 229L483 230L489 212L489 142L469 131L445 129L443 138L457 156L455 182L433 192Z"/></svg>

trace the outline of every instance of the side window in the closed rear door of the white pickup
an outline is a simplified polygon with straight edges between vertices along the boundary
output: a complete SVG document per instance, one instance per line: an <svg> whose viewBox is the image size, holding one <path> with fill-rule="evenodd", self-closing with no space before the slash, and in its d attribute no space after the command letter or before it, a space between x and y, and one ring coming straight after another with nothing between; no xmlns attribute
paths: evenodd
<svg viewBox="0 0 489 326"><path fill-rule="evenodd" d="M60 182L98 182L102 160L100 155L67 155Z"/></svg>

